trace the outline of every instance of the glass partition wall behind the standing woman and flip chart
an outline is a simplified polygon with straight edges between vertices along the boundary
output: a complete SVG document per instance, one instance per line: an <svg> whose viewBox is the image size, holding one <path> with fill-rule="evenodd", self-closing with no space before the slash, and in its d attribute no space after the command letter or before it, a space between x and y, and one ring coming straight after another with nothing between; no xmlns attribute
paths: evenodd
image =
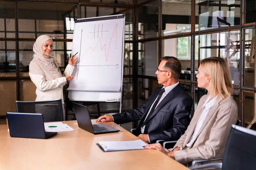
<svg viewBox="0 0 256 170"><path fill-rule="evenodd" d="M89 3L89 4L88 4ZM134 5L111 0L37 0L0 2L0 118L15 112L15 101L35 101L35 85L29 77L29 63L33 58L33 44L37 37L52 37L53 52L63 72L71 56L75 18L125 14L125 61L123 79L123 111L133 108L133 47ZM64 96L67 96L64 86ZM102 113L119 112L119 103L100 103ZM97 105L89 106L97 113Z"/></svg>

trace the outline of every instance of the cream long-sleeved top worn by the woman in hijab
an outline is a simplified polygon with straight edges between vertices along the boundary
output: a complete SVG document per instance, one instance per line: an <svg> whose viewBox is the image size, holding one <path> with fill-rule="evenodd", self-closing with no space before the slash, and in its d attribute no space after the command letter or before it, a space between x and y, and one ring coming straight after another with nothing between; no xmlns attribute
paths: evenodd
<svg viewBox="0 0 256 170"><path fill-rule="evenodd" d="M63 105L63 86L67 83L65 77L71 76L74 68L74 66L68 64L62 77L50 81L46 81L42 75L29 73L30 79L36 86L35 94L37 97L35 101L61 99Z"/></svg>

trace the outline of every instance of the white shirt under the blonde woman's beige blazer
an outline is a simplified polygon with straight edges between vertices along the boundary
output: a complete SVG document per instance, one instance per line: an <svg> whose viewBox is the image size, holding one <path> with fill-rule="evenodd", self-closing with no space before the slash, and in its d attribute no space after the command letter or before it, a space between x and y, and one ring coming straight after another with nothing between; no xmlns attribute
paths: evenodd
<svg viewBox="0 0 256 170"><path fill-rule="evenodd" d="M195 142L195 137L197 136L198 132L200 131L200 129L204 123L204 120L210 111L210 108L212 108L212 106L216 102L217 98L218 98L218 96L215 96L215 98L211 100L211 96L209 96L207 98L207 100L204 102L204 105L203 105L204 110L203 110L200 118L198 119L198 123L196 124L195 131L194 131L192 137L190 138L189 142L186 144L187 147L191 147L192 144ZM180 147L180 150L182 150L181 147Z"/></svg>

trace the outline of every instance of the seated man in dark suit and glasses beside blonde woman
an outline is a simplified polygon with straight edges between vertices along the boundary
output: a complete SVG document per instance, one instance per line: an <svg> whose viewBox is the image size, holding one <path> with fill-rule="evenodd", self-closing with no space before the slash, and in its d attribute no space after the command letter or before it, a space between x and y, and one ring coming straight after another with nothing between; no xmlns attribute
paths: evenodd
<svg viewBox="0 0 256 170"><path fill-rule="evenodd" d="M100 116L96 121L122 124L141 120L134 135L143 141L179 139L189 125L193 103L179 84L180 72L177 58L163 57L156 71L158 83L163 87L158 87L146 104L125 113Z"/></svg>

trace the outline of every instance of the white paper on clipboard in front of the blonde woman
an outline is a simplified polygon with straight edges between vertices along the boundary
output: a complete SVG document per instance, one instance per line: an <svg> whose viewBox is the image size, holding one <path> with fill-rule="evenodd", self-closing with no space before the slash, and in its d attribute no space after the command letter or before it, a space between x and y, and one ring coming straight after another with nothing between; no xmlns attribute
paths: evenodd
<svg viewBox="0 0 256 170"><path fill-rule="evenodd" d="M140 150L146 145L142 140L135 141L99 141L100 146L105 151L117 150Z"/></svg>

